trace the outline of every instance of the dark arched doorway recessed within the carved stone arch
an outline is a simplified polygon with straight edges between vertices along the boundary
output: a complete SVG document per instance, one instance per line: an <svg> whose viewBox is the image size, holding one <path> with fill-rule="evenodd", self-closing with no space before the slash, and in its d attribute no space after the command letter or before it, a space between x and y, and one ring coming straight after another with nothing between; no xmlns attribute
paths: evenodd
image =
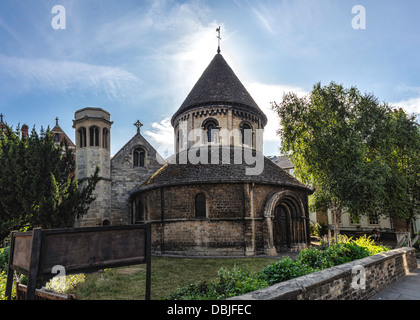
<svg viewBox="0 0 420 320"><path fill-rule="evenodd" d="M279 204L274 209L273 240L277 252L288 251L290 241L290 213L284 204Z"/></svg>

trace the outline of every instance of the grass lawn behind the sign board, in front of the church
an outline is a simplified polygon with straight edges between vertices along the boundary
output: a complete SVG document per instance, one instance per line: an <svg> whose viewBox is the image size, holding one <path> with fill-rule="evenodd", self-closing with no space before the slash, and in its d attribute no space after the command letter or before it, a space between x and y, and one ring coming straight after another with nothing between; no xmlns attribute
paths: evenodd
<svg viewBox="0 0 420 320"><path fill-rule="evenodd" d="M192 282L211 281L221 267L234 265L260 271L275 260L269 258L172 258L152 257L151 296L157 300ZM81 300L143 300L146 265L107 269L86 275L73 293Z"/></svg>

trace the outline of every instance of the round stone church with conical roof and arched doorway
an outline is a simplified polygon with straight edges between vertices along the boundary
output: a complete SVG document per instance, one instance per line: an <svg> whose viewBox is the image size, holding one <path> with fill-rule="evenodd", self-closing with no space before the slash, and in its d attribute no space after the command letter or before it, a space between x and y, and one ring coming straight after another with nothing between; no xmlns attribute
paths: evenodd
<svg viewBox="0 0 420 320"><path fill-rule="evenodd" d="M218 52L172 117L175 155L128 193L156 254L276 255L310 242L312 190L262 154L267 117Z"/></svg>

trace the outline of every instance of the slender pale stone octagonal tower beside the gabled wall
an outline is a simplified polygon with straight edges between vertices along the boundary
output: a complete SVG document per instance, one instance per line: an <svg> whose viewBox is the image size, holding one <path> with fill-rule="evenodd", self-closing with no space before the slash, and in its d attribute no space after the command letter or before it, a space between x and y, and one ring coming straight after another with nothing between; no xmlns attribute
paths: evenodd
<svg viewBox="0 0 420 320"><path fill-rule="evenodd" d="M76 178L88 178L98 166L102 180L95 188L96 200L89 212L75 223L76 227L109 224L111 209L111 139L110 114L101 108L84 108L74 115L76 133Z"/></svg>

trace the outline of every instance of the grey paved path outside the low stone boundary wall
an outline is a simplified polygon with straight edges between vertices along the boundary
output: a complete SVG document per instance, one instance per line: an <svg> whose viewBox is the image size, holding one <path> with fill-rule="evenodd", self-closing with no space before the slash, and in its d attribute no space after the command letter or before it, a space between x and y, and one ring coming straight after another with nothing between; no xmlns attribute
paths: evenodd
<svg viewBox="0 0 420 320"><path fill-rule="evenodd" d="M420 300L420 259L417 269L395 281L369 300Z"/></svg>

